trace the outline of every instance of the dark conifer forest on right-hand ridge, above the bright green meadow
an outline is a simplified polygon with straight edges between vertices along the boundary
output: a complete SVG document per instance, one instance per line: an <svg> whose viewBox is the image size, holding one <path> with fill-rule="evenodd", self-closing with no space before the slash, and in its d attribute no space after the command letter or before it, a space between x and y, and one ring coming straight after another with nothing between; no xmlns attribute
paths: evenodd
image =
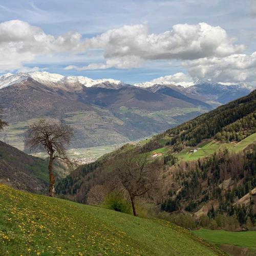
<svg viewBox="0 0 256 256"><path fill-rule="evenodd" d="M256 90L249 95L203 114L193 120L155 136L170 137L167 144L180 151L196 146L203 139L217 136L220 140L242 140L256 131Z"/></svg>

